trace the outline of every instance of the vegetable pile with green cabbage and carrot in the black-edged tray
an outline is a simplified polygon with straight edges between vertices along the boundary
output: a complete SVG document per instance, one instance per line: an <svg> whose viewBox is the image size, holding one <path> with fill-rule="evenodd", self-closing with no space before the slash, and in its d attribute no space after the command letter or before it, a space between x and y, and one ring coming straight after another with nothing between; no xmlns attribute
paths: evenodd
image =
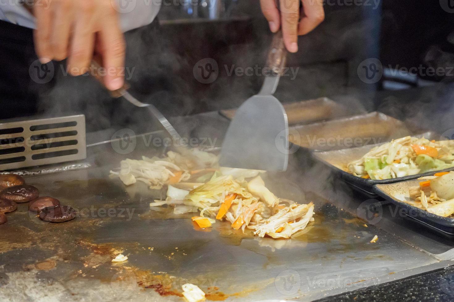
<svg viewBox="0 0 454 302"><path fill-rule="evenodd" d="M388 179L454 167L454 141L407 136L371 149L347 165L353 175Z"/></svg>

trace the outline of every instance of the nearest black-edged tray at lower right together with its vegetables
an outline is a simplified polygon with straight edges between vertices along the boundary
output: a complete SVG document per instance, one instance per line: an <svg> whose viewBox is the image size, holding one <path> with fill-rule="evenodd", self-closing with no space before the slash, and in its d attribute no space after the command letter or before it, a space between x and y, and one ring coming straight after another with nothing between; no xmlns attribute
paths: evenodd
<svg viewBox="0 0 454 302"><path fill-rule="evenodd" d="M400 208L395 211L396 215L413 218L423 225L454 235L453 181L454 172L436 173L422 179L378 184L374 191Z"/></svg>

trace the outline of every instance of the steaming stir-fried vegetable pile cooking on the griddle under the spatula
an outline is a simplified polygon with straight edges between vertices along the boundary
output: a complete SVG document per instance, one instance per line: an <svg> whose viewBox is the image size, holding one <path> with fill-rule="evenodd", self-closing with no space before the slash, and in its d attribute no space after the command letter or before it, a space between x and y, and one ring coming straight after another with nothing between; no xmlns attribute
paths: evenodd
<svg viewBox="0 0 454 302"><path fill-rule="evenodd" d="M260 237L289 239L314 221L314 205L276 197L259 175L264 171L218 167L217 156L205 153L194 153L196 163L173 152L163 159L126 159L118 172L111 173L125 185L136 181L151 188L168 185L166 200L150 206L173 206L175 214L200 211L192 221L201 228L228 221L236 230L247 228ZM252 179L247 182L246 178Z"/></svg>

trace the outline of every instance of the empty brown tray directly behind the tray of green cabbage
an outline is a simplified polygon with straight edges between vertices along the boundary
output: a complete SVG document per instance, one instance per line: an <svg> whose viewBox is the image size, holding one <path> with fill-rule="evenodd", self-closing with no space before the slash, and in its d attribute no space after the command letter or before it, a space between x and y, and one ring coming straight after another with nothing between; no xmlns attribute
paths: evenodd
<svg viewBox="0 0 454 302"><path fill-rule="evenodd" d="M291 129L293 144L311 150L337 150L388 142L412 134L405 124L371 112Z"/></svg>

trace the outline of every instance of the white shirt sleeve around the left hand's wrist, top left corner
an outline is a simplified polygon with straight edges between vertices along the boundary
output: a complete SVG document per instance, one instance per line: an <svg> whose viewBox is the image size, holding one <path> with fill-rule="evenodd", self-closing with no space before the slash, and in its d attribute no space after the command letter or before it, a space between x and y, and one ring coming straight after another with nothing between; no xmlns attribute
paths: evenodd
<svg viewBox="0 0 454 302"><path fill-rule="evenodd" d="M0 4L3 0L0 0ZM24 5L5 0L0 5L0 20L35 29L35 17L25 9ZM135 29L153 22L161 7L161 0L111 0L118 11L120 26L123 32ZM36 1L36 4L46 5L47 2Z"/></svg>

